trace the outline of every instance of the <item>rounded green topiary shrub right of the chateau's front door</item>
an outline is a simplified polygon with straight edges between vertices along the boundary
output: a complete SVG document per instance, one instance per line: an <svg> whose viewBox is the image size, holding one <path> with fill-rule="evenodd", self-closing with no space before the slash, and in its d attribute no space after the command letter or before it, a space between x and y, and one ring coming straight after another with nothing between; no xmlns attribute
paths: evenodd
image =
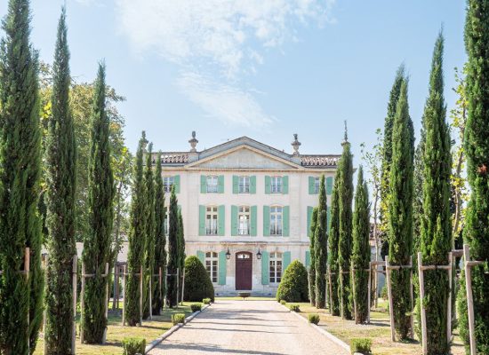
<svg viewBox="0 0 489 355"><path fill-rule="evenodd" d="M285 269L277 289L277 300L285 302L308 302L308 272L299 260L294 260Z"/></svg>

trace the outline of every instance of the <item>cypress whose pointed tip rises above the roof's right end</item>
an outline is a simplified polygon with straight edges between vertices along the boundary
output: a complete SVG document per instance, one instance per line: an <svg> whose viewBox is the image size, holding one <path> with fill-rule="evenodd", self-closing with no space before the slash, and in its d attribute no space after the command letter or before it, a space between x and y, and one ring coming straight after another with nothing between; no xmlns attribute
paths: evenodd
<svg viewBox="0 0 489 355"><path fill-rule="evenodd" d="M346 125L346 123L345 123ZM338 241L338 264L339 264L339 284L340 284L340 305L341 317L351 319L351 308L353 299L350 290L350 256L353 244L352 239L352 202L353 202L353 156L349 150L347 130L345 128L345 140L341 144L343 153L341 154L340 167L341 179L338 184L338 196L340 200L340 240Z"/></svg>

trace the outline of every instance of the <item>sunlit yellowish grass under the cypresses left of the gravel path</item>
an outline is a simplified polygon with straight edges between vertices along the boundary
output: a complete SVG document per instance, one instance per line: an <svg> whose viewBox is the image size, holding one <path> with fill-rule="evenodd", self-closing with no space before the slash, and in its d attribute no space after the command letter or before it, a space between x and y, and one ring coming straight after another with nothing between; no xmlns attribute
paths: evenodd
<svg viewBox="0 0 489 355"><path fill-rule="evenodd" d="M76 333L76 354L77 355L120 355L123 352L122 341L125 337L142 337L146 339L146 343L155 340L159 335L162 335L166 330L172 327L172 314L185 313L187 317L191 314L190 302L185 302L178 309L164 309L160 316L153 316L152 320L143 320L142 327L122 327L122 312L111 311L109 304L108 312L108 332L107 343L103 345L81 344L80 335ZM79 324L79 318L77 320ZM79 330L79 329L78 329ZM44 335L41 334L37 342L34 355L44 354Z"/></svg>

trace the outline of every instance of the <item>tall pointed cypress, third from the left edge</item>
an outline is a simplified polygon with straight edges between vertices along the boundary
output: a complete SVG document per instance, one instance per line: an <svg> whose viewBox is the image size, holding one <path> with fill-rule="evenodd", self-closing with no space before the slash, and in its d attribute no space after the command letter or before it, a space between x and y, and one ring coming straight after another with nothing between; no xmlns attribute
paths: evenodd
<svg viewBox="0 0 489 355"><path fill-rule="evenodd" d="M114 177L110 165L110 120L106 112L105 64L100 63L92 101L92 133L88 167L88 206L90 233L84 240L85 272L93 273L85 280L84 319L82 331L86 343L102 343L107 327L105 292L110 263L110 245L114 221Z"/></svg>

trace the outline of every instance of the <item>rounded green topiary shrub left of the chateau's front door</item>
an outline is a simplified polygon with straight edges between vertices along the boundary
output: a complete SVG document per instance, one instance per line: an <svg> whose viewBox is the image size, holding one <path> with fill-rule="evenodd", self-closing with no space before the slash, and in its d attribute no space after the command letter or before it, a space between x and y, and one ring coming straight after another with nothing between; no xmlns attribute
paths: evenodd
<svg viewBox="0 0 489 355"><path fill-rule="evenodd" d="M185 289L183 299L189 302L201 302L203 298L214 301L214 287L204 265L196 256L185 259Z"/></svg>

